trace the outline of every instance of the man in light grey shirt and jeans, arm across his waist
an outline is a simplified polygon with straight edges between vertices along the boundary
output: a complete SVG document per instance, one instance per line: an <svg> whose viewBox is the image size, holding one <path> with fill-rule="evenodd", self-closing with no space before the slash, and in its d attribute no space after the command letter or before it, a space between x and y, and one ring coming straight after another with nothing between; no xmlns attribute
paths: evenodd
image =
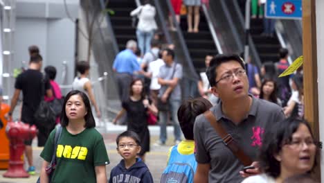
<svg viewBox="0 0 324 183"><path fill-rule="evenodd" d="M163 50L162 59L165 64L160 67L158 75L158 82L161 85L158 97L161 98L161 101L169 103L174 126L174 143L179 143L181 141L181 130L177 111L181 105L181 87L179 80L182 78L182 66L181 64L174 62L174 51L172 49ZM167 140L167 121L168 112L160 111L160 139L157 142L159 145L164 145L165 141Z"/></svg>

